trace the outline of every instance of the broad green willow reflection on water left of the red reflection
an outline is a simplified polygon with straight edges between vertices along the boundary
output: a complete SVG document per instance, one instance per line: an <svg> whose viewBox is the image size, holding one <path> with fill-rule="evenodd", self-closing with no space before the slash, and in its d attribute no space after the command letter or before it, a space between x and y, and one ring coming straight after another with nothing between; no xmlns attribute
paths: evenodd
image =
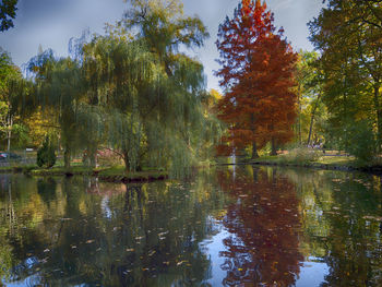
<svg viewBox="0 0 382 287"><path fill-rule="evenodd" d="M15 213L35 207L35 224L25 217L16 242L2 238L9 253L0 255L12 260L4 275L52 286L198 285L206 276L210 261L199 243L212 229L207 215L223 206L208 177L183 184L56 182L55 196L46 194L53 182L28 179L27 189L13 189Z"/></svg>

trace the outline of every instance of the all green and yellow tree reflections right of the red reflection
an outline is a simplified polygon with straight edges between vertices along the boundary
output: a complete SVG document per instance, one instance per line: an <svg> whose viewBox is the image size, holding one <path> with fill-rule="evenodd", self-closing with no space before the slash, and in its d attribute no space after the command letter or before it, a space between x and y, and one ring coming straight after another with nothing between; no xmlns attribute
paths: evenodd
<svg viewBox="0 0 382 287"><path fill-rule="evenodd" d="M286 174L299 182L308 252L330 267L322 286L381 286L381 179L327 171Z"/></svg>

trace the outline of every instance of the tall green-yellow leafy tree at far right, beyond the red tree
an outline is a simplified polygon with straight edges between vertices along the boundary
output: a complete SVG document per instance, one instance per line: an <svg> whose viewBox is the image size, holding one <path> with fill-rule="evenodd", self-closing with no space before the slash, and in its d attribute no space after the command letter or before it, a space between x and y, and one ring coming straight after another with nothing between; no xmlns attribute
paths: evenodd
<svg viewBox="0 0 382 287"><path fill-rule="evenodd" d="M311 40L322 53L322 99L332 139L347 151L358 144L355 122L367 122L381 148L381 15L380 1L331 0L309 23Z"/></svg>

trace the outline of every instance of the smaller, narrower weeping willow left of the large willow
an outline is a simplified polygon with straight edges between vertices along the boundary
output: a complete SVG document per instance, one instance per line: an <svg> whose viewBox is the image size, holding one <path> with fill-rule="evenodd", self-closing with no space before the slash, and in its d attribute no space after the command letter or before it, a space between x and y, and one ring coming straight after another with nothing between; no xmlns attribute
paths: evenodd
<svg viewBox="0 0 382 287"><path fill-rule="evenodd" d="M64 148L64 166L70 167L72 153L81 146L77 118L85 99L85 82L79 61L71 58L56 59L51 50L31 59L28 70L35 75L36 103L53 108Z"/></svg>

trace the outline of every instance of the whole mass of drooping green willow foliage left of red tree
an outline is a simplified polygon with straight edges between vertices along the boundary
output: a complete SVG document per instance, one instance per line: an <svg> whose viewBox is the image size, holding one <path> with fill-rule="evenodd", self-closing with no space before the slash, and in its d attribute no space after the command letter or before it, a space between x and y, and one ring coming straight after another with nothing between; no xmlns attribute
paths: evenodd
<svg viewBox="0 0 382 287"><path fill-rule="evenodd" d="M33 115L56 118L65 166L80 151L95 166L102 147L120 155L128 170L148 166L180 176L206 156L219 133L206 103L213 96L202 63L179 50L207 36L178 1L132 1L105 35L71 40L71 57L51 50L34 57Z"/></svg>

